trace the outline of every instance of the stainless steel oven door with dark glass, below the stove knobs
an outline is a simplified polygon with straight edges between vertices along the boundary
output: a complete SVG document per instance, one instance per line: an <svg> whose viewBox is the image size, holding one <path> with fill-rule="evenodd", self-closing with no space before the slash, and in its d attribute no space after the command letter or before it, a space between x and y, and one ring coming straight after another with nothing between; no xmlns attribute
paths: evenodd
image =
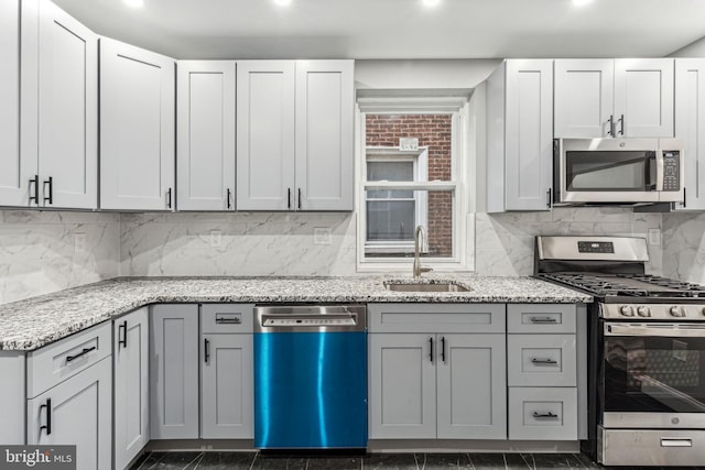
<svg viewBox="0 0 705 470"><path fill-rule="evenodd" d="M705 324L604 321L606 428L705 427Z"/></svg>

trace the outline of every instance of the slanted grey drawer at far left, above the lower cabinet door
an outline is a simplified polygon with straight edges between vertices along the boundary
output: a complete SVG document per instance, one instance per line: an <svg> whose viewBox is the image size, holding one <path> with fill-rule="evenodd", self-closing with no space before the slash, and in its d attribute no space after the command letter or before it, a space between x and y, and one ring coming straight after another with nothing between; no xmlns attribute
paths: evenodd
<svg viewBox="0 0 705 470"><path fill-rule="evenodd" d="M26 396L33 398L111 353L112 321L40 348L28 354Z"/></svg>

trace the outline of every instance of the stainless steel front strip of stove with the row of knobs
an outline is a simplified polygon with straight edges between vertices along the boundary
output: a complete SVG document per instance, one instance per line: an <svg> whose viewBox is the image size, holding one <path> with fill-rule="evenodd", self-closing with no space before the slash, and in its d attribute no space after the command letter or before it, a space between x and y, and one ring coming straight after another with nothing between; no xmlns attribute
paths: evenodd
<svg viewBox="0 0 705 470"><path fill-rule="evenodd" d="M705 304L599 304L599 316L622 320L705 321Z"/></svg>

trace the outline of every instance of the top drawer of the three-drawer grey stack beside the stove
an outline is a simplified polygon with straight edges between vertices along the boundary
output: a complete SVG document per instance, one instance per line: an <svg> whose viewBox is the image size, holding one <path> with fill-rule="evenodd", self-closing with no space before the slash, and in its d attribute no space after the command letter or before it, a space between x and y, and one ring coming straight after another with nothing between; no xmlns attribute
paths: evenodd
<svg viewBox="0 0 705 470"><path fill-rule="evenodd" d="M508 332L575 332L575 304L510 304Z"/></svg>

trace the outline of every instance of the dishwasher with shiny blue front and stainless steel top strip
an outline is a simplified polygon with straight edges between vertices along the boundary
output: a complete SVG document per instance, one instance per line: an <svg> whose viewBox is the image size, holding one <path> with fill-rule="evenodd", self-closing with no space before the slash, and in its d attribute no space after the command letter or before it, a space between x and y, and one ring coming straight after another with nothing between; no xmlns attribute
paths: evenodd
<svg viewBox="0 0 705 470"><path fill-rule="evenodd" d="M254 447L367 447L366 307L254 313Z"/></svg>

